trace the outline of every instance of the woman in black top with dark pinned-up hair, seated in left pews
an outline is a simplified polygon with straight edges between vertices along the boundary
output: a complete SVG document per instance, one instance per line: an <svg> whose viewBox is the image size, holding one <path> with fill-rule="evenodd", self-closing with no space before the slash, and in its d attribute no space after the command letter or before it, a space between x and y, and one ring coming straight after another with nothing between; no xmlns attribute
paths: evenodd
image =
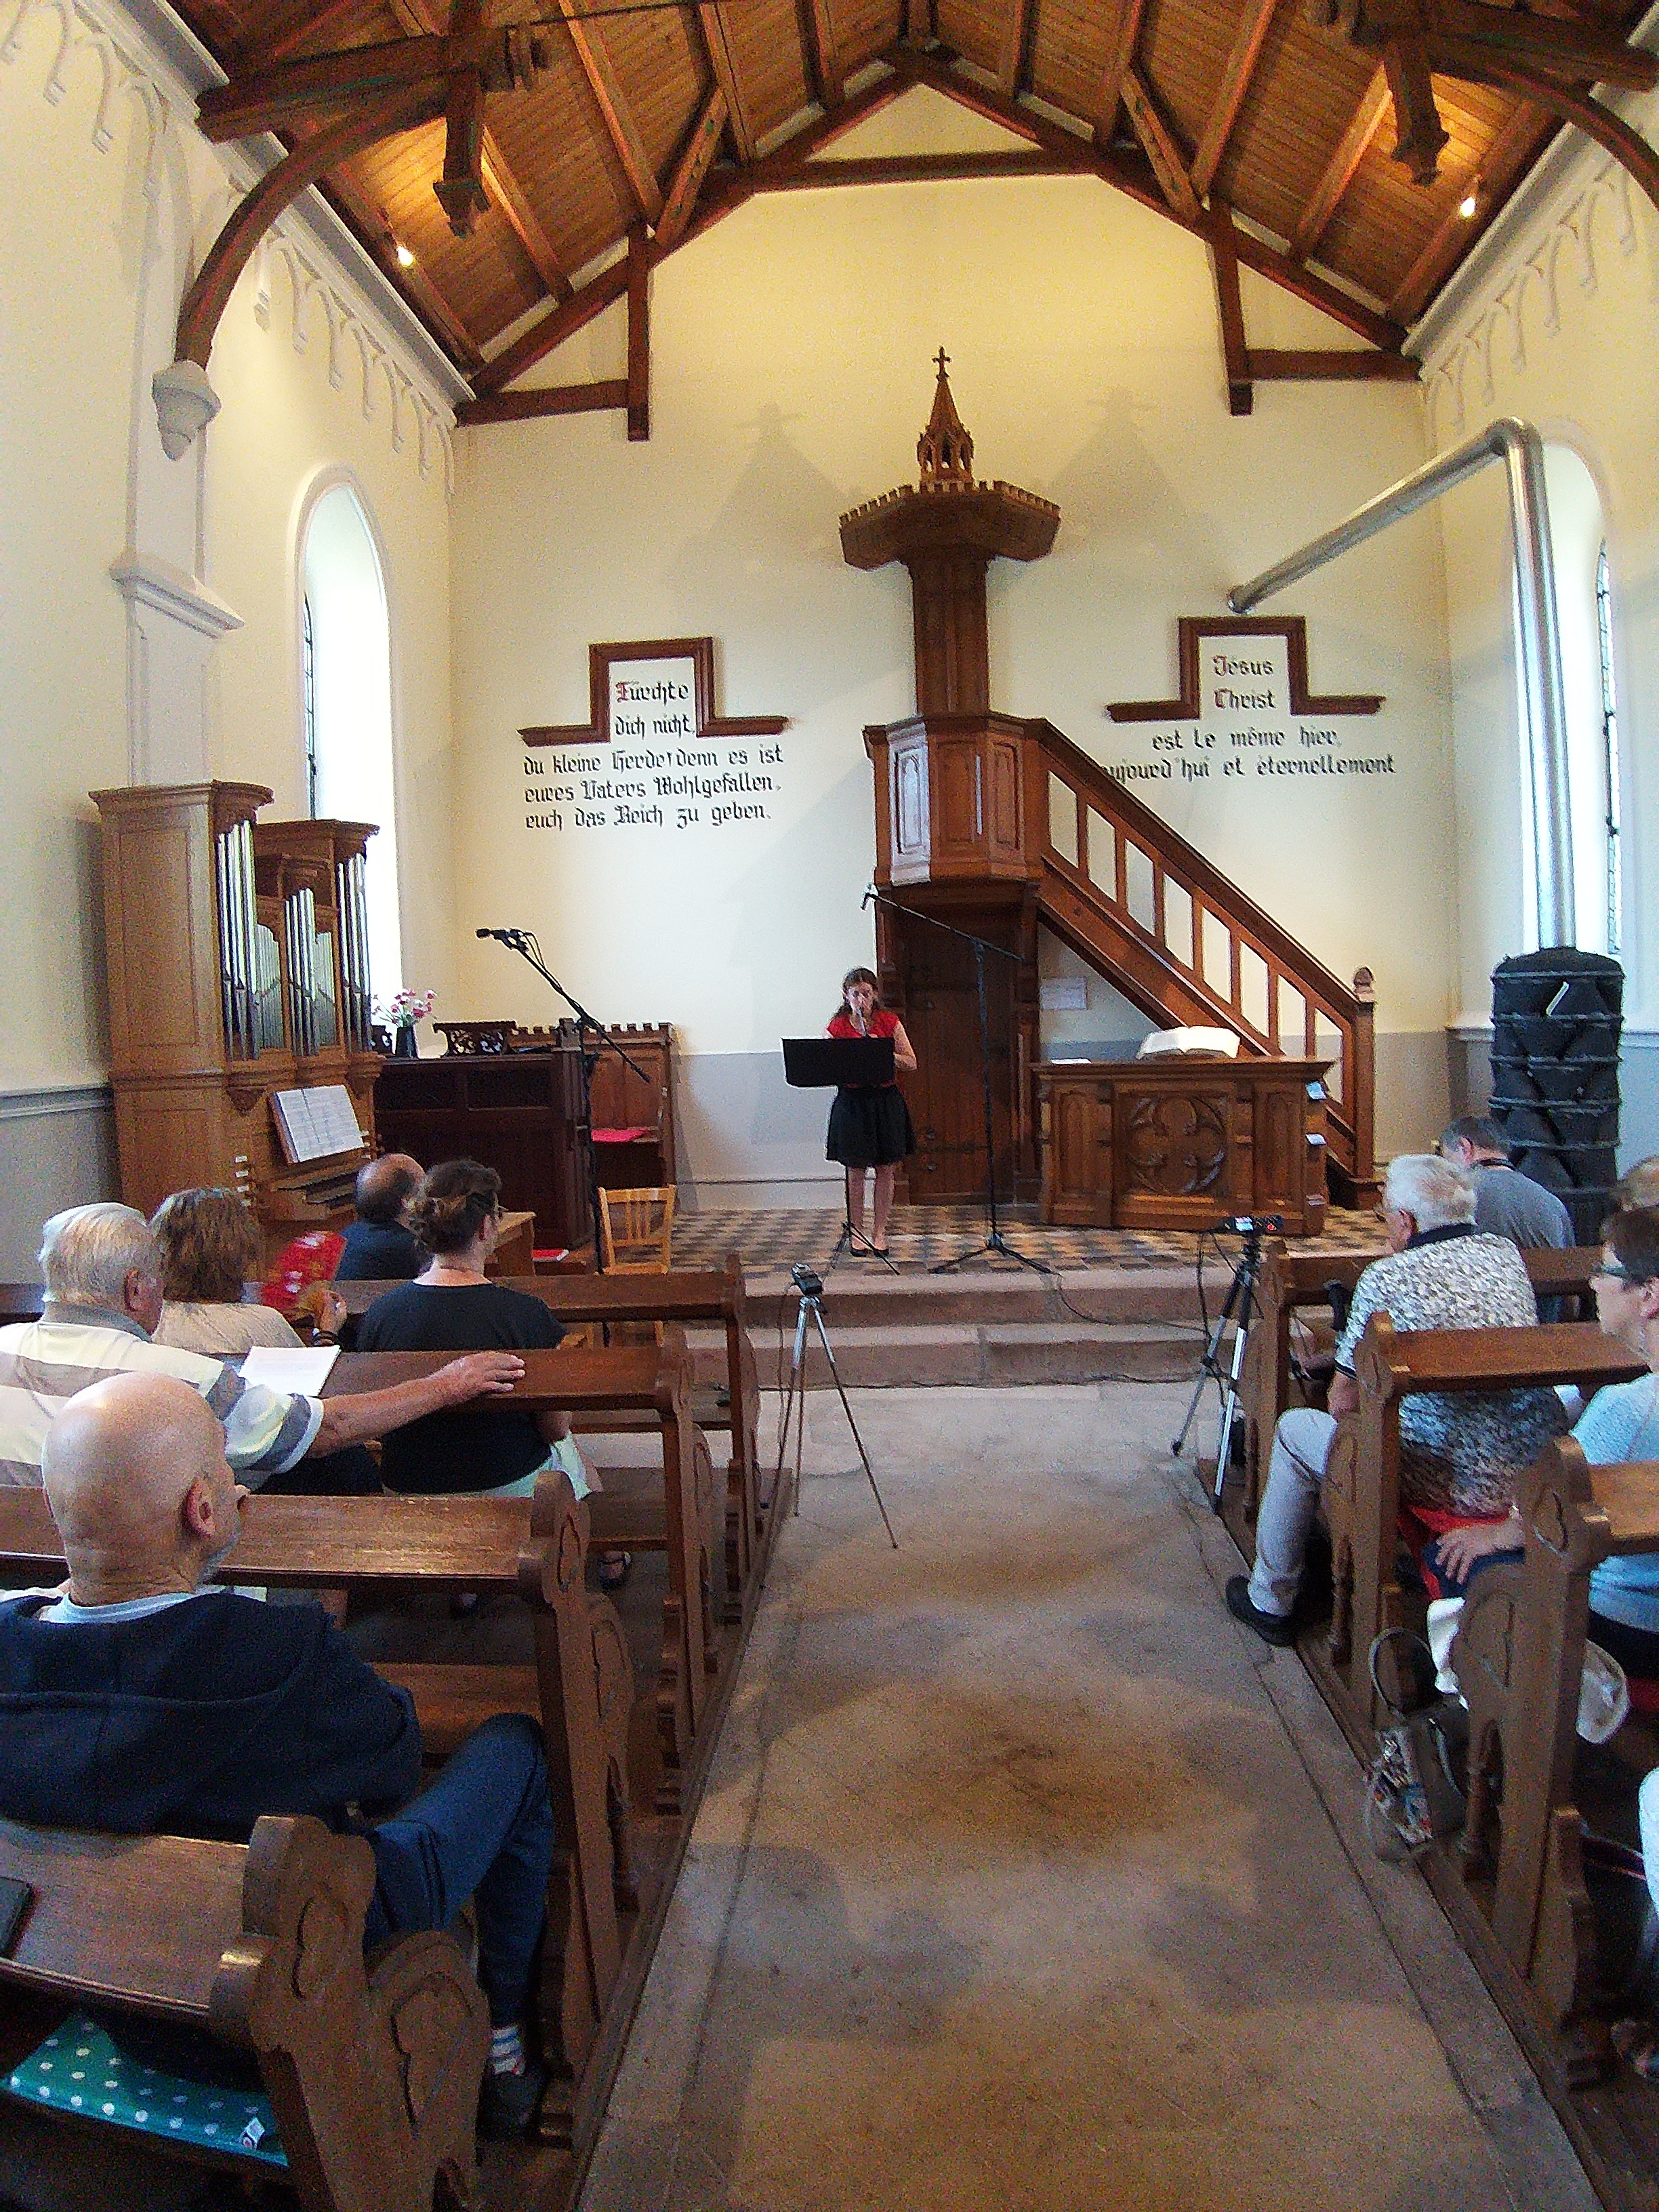
<svg viewBox="0 0 1659 2212"><path fill-rule="evenodd" d="M564 1327L540 1298L484 1276L500 1234L500 1175L476 1159L447 1159L422 1179L409 1201L409 1228L427 1265L363 1314L358 1352L533 1352L560 1343ZM380 1478L392 1491L526 1495L551 1464L586 1498L593 1484L568 1413L469 1405L411 1420L380 1444Z"/></svg>

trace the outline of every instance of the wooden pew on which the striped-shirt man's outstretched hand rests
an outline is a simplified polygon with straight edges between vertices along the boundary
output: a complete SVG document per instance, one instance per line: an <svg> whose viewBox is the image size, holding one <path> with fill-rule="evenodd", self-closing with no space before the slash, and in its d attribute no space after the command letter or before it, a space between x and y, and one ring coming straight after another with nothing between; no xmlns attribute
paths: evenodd
<svg viewBox="0 0 1659 2212"><path fill-rule="evenodd" d="M387 1389L429 1376L453 1354L449 1352L343 1352L334 1363L323 1396ZM721 1666L714 1630L714 1467L708 1444L690 1418L690 1360L679 1329L666 1329L661 1345L622 1347L615 1352L524 1352L524 1376L511 1396L498 1405L515 1405L531 1413L564 1409L580 1425L595 1427L613 1411L653 1416L661 1436L661 1542L668 1551L668 1593L664 1597L661 1670L657 1677L657 1743L661 1750L659 1809L679 1812L690 1774L697 1734ZM276 1504L279 1500L261 1500ZM414 1500L403 1500L414 1504ZM438 1500L422 1500L438 1504ZM478 1500L478 1504L515 1500ZM522 1513L522 1502L520 1513ZM655 1513L635 1515L628 1502L606 1504L604 1493L591 1500L595 1544L655 1540ZM261 1582L248 1566L246 1540L237 1551L239 1582ZM387 1571L380 1568L380 1575ZM307 1575L307 1582L312 1577ZM341 1575L338 1582L352 1582ZM482 1584L458 1584L482 1588Z"/></svg>

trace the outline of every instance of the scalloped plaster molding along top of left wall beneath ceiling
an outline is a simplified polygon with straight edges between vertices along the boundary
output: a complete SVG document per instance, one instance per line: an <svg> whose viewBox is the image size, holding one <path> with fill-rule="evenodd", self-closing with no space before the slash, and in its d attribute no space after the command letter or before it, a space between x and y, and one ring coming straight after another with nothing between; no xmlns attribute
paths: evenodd
<svg viewBox="0 0 1659 2212"><path fill-rule="evenodd" d="M115 144L115 108L131 93L144 115L148 144L144 146L144 192L155 199L161 186L161 146L170 133L192 131L192 106L201 84L217 82L206 49L197 49L197 66L184 73L192 60L188 35L170 42L170 51L155 44L155 27L142 27L117 4L117 0L15 0L0 35L0 62L15 62L22 51L22 33L38 15L58 22L58 44L46 69L42 95L58 104L66 88L66 69L73 60L86 58L100 71L100 100L93 117L93 146L108 153ZM195 82L192 82L195 77ZM206 142L201 142L206 146ZM226 173L226 212L252 188L252 184L281 155L270 148L270 159L252 157L246 148L208 148ZM217 199L219 195L215 195ZM314 206L312 206L314 201ZM389 409L385 414L392 451L403 453L414 447L420 476L431 476L442 462L445 493L456 489L453 462L453 411L451 400L465 392L453 378L456 392L442 392L420 369L411 367L407 347L389 330L378 327L367 294L358 292L354 274L336 259L334 241L325 239L319 219L332 221L330 210L316 195L305 195L274 226L265 248L261 248L254 274L254 321L270 327L270 252L281 252L294 303L294 352L305 352L305 312L312 299L323 307L327 323L327 376L338 392L345 385L347 343L361 372L363 420L380 420L380 396L376 383L385 383ZM217 232L219 223L212 226ZM356 250L349 232L343 232L347 248ZM378 272L369 268L374 279ZM425 338L425 332L422 332ZM427 341L429 343L429 341ZM449 372L453 376L453 372ZM414 438L411 438L414 431ZM119 577L117 577L119 582Z"/></svg>

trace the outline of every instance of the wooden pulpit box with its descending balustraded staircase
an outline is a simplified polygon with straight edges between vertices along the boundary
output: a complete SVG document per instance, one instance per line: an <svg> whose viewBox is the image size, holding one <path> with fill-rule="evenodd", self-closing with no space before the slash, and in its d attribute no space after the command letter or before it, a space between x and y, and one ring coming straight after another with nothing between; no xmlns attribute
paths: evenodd
<svg viewBox="0 0 1659 2212"><path fill-rule="evenodd" d="M1166 1029L1230 1029L1241 1053L1329 1057L1329 1183L1376 1197L1374 989L1349 984L1048 721L918 714L865 730L876 883L1035 898L1035 916Z"/></svg>

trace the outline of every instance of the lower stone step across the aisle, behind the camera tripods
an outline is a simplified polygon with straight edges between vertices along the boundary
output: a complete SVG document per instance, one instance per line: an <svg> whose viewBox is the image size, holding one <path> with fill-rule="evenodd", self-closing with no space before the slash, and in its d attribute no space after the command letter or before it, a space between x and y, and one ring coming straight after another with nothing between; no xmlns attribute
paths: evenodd
<svg viewBox="0 0 1659 2212"><path fill-rule="evenodd" d="M779 1374L774 1327L757 1327L750 1305L750 1343L761 1389ZM1062 1321L967 1321L894 1325L843 1325L825 1307L825 1329L841 1380L854 1389L898 1389L902 1385L1013 1385L1013 1383L1108 1383L1181 1380L1197 1374L1201 1338L1197 1325L1161 1321L1088 1323ZM714 1329L688 1332L699 1383L726 1376L726 1338ZM794 1349L794 1301L785 1307L783 1374ZM807 1336L807 1389L830 1389L830 1365L816 1332Z"/></svg>

